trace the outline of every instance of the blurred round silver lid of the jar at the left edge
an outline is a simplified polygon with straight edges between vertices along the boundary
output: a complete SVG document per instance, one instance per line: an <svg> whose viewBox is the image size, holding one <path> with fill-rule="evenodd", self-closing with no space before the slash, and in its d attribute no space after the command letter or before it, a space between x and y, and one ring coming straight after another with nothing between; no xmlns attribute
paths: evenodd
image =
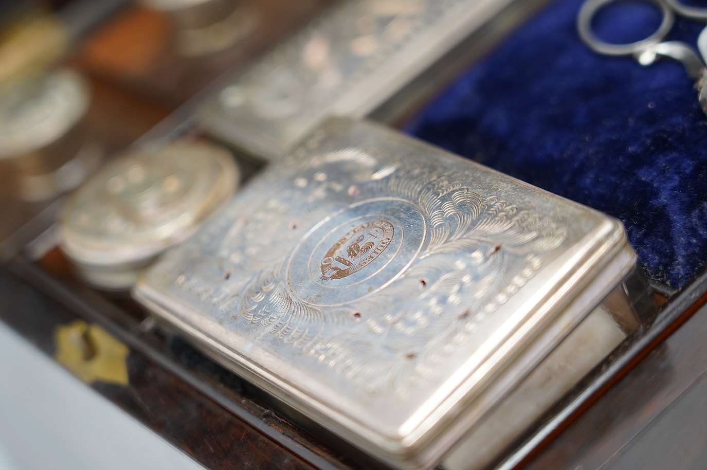
<svg viewBox="0 0 707 470"><path fill-rule="evenodd" d="M0 95L0 158L14 158L64 136L86 114L90 93L74 71L18 83Z"/></svg>

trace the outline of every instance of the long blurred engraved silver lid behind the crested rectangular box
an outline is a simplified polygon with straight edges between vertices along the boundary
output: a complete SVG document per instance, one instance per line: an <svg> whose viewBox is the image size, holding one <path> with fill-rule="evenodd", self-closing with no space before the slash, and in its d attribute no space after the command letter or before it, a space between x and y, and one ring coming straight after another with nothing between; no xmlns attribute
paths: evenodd
<svg viewBox="0 0 707 470"><path fill-rule="evenodd" d="M278 160L329 115L375 110L513 1L339 1L204 103L199 122Z"/></svg>

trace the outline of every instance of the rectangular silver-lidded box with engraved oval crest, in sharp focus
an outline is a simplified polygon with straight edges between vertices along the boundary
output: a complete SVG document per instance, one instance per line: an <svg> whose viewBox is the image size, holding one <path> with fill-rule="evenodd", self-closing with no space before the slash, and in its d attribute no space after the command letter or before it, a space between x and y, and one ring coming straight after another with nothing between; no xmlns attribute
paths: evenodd
<svg viewBox="0 0 707 470"><path fill-rule="evenodd" d="M382 462L472 469L640 326L635 262L613 218L337 118L134 296Z"/></svg>

